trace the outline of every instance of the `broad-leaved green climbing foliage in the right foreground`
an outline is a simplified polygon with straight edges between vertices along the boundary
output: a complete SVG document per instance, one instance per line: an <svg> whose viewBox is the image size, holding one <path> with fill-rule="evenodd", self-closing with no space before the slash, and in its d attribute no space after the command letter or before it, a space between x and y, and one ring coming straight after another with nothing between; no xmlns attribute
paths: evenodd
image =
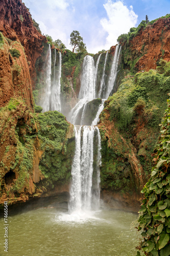
<svg viewBox="0 0 170 256"><path fill-rule="evenodd" d="M170 251L170 99L167 103L154 154L155 166L142 190L144 199L139 210L138 230L142 230L139 249L148 256L168 256Z"/></svg>

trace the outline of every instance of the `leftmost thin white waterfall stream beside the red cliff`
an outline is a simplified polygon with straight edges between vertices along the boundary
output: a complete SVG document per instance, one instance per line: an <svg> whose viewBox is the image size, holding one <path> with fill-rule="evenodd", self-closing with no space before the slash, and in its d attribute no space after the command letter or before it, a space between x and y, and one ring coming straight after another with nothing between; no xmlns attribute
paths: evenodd
<svg viewBox="0 0 170 256"><path fill-rule="evenodd" d="M46 79L45 79L45 97L42 103L42 111L46 112L50 110L50 96L51 96L51 70L52 70L52 53L49 45L46 56Z"/></svg>

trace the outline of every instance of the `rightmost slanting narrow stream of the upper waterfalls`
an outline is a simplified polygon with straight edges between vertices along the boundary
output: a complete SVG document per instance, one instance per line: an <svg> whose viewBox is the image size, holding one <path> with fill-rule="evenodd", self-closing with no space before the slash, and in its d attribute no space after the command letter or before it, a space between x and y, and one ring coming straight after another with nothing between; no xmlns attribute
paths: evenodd
<svg viewBox="0 0 170 256"><path fill-rule="evenodd" d="M115 82L116 75L117 75L117 67L118 67L120 50L121 50L121 46L119 48L119 46L117 45L116 49L115 49L114 57L113 57L112 66L111 66L111 72L110 72L110 77L109 77L109 81L108 81L107 91L105 94L106 99L109 97L109 95L114 87L114 82Z"/></svg>

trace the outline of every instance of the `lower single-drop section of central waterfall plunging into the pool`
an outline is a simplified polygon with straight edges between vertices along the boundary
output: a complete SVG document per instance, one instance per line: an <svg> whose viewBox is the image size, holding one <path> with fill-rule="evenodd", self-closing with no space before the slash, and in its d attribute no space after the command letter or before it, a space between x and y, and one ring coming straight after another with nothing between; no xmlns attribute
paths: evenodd
<svg viewBox="0 0 170 256"><path fill-rule="evenodd" d="M97 209L100 201L101 138L99 129L95 126L75 126L75 137L76 150L71 168L70 213ZM94 150L95 144L96 150ZM93 154L95 151L96 156Z"/></svg>

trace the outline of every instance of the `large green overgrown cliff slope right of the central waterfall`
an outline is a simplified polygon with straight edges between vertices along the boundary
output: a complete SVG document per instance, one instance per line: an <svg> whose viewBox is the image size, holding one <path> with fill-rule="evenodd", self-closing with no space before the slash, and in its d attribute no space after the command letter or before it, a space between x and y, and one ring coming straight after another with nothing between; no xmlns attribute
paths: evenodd
<svg viewBox="0 0 170 256"><path fill-rule="evenodd" d="M150 174L153 165L151 154L159 136L159 123L170 90L170 77L166 76L169 64L165 65L162 74L150 70L134 77L128 75L117 92L105 102L105 111L100 116L102 188L124 192L137 189L128 160L133 146L144 173Z"/></svg>

